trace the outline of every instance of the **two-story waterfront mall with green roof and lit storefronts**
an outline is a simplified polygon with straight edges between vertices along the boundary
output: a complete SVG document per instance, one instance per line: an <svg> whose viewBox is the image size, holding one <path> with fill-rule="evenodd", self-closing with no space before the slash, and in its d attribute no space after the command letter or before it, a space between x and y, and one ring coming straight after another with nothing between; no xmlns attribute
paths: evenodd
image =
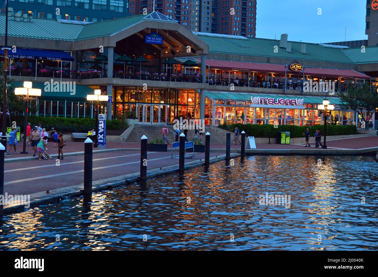
<svg viewBox="0 0 378 277"><path fill-rule="evenodd" d="M42 89L31 103L40 116L94 117L99 104L108 119L135 114L139 124L182 117L209 125L326 120L359 128L361 118L342 107L338 93L365 84L378 92L378 46L361 53L359 47L290 42L287 34L270 40L190 32L158 12L96 23L10 17L8 24L9 45L17 46L8 55L9 82L31 81ZM0 32L4 26L0 15ZM300 71L288 66L294 61ZM330 84L328 93L320 82ZM308 90L308 83L319 85ZM94 89L110 100L87 101ZM326 118L318 109L324 98L335 106ZM374 117L367 124L377 125Z"/></svg>

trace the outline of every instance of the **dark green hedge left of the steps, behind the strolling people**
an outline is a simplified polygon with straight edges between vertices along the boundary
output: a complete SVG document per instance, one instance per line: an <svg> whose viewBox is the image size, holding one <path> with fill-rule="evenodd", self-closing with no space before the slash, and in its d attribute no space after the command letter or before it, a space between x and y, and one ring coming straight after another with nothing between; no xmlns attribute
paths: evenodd
<svg viewBox="0 0 378 277"><path fill-rule="evenodd" d="M24 128L23 115L11 115L11 122L15 121L17 126L20 126L21 131ZM41 123L42 128L50 131L51 128L56 129L58 132L78 132L86 133L90 129L95 129L95 118L71 118L71 117L41 117L36 115L28 116L28 122L31 126L37 126ZM7 118L7 126L9 125L9 117ZM119 130L127 128L127 123L121 120L112 119L106 121L107 130Z"/></svg>

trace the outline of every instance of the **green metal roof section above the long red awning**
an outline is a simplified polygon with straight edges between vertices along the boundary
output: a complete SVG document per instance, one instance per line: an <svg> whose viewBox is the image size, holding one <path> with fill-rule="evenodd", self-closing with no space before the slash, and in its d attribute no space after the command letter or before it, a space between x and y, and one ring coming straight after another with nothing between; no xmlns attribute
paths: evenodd
<svg viewBox="0 0 378 277"><path fill-rule="evenodd" d="M327 47L316 43L305 43L307 54L301 53L302 42L291 42L291 52L279 48L279 40L265 38L246 38L234 36L221 36L217 34L204 34L194 32L209 45L211 53L221 53L229 55L246 55L256 57L286 58L288 60L310 60L319 62L350 63L355 64L365 60L378 62L378 47L367 47L366 53L359 53L349 48ZM278 46L278 52L274 52L274 47ZM353 53L351 53L353 52ZM369 55L369 58L367 57ZM374 56L375 55L375 56Z"/></svg>

